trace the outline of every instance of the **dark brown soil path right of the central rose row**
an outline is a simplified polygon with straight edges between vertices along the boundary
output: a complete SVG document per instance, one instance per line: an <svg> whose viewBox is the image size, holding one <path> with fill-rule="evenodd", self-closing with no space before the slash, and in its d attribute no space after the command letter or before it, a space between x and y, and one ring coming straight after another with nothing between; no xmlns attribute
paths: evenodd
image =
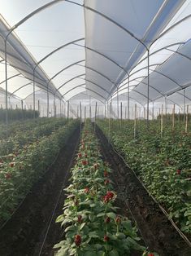
<svg viewBox="0 0 191 256"><path fill-rule="evenodd" d="M152 200L123 159L113 150L102 130L97 126L96 133L101 143L102 156L114 170L111 179L120 197L120 207L131 213L137 223L145 245L160 256L189 256L191 249L167 217Z"/></svg>

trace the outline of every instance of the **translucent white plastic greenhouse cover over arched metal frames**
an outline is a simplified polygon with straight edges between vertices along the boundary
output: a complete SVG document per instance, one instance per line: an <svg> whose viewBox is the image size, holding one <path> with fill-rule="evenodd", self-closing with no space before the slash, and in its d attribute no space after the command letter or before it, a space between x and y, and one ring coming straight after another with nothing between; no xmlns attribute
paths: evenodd
<svg viewBox="0 0 191 256"><path fill-rule="evenodd" d="M191 0L0 0L0 104L190 104ZM149 56L149 70L148 70ZM149 79L148 79L149 73ZM129 80L129 81L128 81ZM149 92L148 92L149 80ZM89 99L89 100L88 100ZM88 100L88 101L87 101ZM88 104L88 103L87 103ZM46 111L46 110L45 110Z"/></svg>

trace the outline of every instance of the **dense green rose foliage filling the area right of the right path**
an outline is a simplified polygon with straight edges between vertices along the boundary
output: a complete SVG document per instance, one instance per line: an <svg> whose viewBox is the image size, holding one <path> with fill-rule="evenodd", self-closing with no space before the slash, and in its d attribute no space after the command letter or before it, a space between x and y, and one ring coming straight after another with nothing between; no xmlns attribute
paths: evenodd
<svg viewBox="0 0 191 256"><path fill-rule="evenodd" d="M99 121L105 135L108 121ZM180 123L184 126L184 123ZM171 132L165 127L160 134L158 121L139 121L136 139L133 123L119 129L119 121L112 121L110 139L121 152L128 165L135 170L145 187L180 225L183 232L191 233L191 139L189 134L180 132L180 127Z"/></svg>

